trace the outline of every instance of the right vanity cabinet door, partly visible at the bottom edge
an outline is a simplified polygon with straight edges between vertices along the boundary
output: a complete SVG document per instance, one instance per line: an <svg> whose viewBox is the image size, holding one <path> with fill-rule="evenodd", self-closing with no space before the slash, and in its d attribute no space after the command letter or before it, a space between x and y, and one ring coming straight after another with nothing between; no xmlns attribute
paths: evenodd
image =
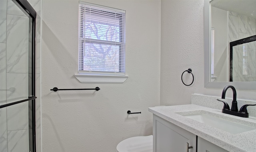
<svg viewBox="0 0 256 152"><path fill-rule="evenodd" d="M228 152L219 146L204 140L203 138L198 137L197 141L198 152Z"/></svg>

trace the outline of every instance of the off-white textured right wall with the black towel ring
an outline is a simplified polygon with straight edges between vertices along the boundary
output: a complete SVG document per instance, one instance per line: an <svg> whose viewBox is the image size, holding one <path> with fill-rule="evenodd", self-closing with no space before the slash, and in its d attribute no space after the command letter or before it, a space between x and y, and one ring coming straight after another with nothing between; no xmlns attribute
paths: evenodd
<svg viewBox="0 0 256 152"><path fill-rule="evenodd" d="M191 86L180 78L188 68L195 76ZM161 105L190 104L193 93L221 97L222 89L204 88L204 0L161 1L160 79ZM255 100L256 90L237 90L237 98Z"/></svg>

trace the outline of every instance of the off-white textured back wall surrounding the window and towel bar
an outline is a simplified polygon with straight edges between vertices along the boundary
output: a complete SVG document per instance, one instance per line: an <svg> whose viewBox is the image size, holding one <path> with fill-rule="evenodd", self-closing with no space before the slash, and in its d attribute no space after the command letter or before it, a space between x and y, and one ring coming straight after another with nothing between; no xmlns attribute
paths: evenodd
<svg viewBox="0 0 256 152"><path fill-rule="evenodd" d="M86 1L126 10L123 84L81 84L78 0L42 0L42 149L114 152L131 136L152 134L148 107L160 104L160 0ZM50 91L58 88L95 88ZM127 111L142 114L127 115Z"/></svg>

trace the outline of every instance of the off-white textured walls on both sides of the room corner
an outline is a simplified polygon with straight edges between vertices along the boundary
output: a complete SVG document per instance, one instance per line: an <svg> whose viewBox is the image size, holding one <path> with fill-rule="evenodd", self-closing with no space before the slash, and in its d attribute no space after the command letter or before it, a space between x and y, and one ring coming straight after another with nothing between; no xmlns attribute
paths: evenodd
<svg viewBox="0 0 256 152"><path fill-rule="evenodd" d="M115 151L125 138L152 134L148 107L190 104L193 93L220 96L222 89L204 88L203 0L86 2L126 10L129 78L123 84L80 84L74 78L78 64L78 0L43 0L44 152ZM191 86L184 86L180 77L188 68L192 68L195 80ZM186 83L191 81L189 74L184 77ZM53 87L96 86L101 90L50 91ZM240 99L256 99L255 90L237 90L237 94ZM232 97L231 92L226 96ZM127 110L142 114L127 115Z"/></svg>

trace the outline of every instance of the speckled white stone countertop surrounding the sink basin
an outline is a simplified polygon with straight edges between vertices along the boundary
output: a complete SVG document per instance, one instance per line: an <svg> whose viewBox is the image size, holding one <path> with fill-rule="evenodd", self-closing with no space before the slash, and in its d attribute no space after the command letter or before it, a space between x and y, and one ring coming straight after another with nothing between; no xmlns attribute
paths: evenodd
<svg viewBox="0 0 256 152"><path fill-rule="evenodd" d="M246 124L256 128L255 117L243 118L228 115L222 113L221 109L212 109L193 104L148 108L148 111L154 115L157 115L170 123L189 131L190 133L200 136L201 138L216 144L225 150L230 152L256 152L256 129L246 131L244 133L232 134L180 115L182 112L186 113L188 111L198 110L215 113L216 115L223 116L224 119L228 118L232 121L235 120L236 123Z"/></svg>

